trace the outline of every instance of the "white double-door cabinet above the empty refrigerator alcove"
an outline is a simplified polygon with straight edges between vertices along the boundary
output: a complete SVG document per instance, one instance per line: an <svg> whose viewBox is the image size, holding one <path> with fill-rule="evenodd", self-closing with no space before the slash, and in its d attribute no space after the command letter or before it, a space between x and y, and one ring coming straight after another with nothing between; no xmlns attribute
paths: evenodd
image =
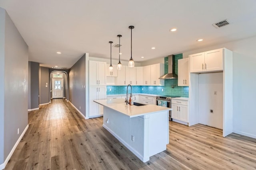
<svg viewBox="0 0 256 170"><path fill-rule="evenodd" d="M217 72L223 70L223 49L216 49L189 56L190 72Z"/></svg>

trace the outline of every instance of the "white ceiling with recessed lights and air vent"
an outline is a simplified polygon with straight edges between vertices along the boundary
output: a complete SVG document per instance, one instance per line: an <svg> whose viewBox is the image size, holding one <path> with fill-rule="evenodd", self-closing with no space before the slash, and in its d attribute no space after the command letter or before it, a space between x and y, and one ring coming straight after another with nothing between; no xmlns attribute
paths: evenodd
<svg viewBox="0 0 256 170"><path fill-rule="evenodd" d="M128 61L130 25L135 62L256 35L256 0L0 0L0 7L28 44L29 61L46 67L70 68L84 53L110 58L108 41L118 43L118 34ZM212 26L225 19L231 24Z"/></svg>

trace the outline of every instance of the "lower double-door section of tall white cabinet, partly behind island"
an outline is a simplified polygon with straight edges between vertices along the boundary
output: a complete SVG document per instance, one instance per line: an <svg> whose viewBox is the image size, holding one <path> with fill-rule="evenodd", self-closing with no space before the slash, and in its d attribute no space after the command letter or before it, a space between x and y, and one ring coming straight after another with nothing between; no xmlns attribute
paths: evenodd
<svg viewBox="0 0 256 170"><path fill-rule="evenodd" d="M103 106L94 102L94 100L106 99L106 86L90 86L89 88L89 117L98 117L103 115Z"/></svg>

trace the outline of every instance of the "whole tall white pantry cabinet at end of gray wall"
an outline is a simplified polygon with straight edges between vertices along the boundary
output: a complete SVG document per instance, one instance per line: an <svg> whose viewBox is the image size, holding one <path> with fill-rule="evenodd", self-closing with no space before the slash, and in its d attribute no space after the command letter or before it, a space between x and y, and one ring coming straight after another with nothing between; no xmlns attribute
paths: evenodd
<svg viewBox="0 0 256 170"><path fill-rule="evenodd" d="M106 99L106 62L89 61L89 118L103 115L103 106L93 102Z"/></svg>

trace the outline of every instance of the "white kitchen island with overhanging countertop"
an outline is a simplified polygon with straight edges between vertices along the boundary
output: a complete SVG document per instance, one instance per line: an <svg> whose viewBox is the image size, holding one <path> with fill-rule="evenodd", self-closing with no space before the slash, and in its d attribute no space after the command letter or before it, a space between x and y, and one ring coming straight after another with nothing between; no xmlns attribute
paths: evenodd
<svg viewBox="0 0 256 170"><path fill-rule="evenodd" d="M166 150L169 143L168 107L126 105L124 99L94 100L104 106L103 127L140 160Z"/></svg>

